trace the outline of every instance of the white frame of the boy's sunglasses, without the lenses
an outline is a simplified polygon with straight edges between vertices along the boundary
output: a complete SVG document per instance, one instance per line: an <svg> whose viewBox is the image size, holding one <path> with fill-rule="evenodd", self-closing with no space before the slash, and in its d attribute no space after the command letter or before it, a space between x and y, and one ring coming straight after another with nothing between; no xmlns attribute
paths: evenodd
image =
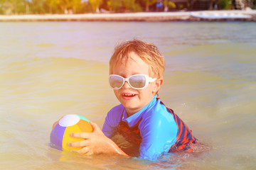
<svg viewBox="0 0 256 170"><path fill-rule="evenodd" d="M122 78L122 79L124 80L122 86L124 86L125 81L127 81L127 83L129 84L129 78L131 78L131 77L134 77L134 76L144 76L144 77L146 78L146 82L145 82L145 86L144 86L144 87L142 87L142 88L135 88L135 87L133 87L131 84L129 84L129 86L130 86L132 89L136 89L136 90L145 89L147 86L149 86L149 83L153 83L154 81L156 81L156 78L151 78L151 77L149 77L149 76L146 75L146 74L134 74L134 75L132 75L132 76L130 76L130 77L128 77L128 78L124 78L124 77L119 76L119 75L117 75L117 74L110 74L110 76L109 76L109 83L110 83L110 77L112 77L112 76L116 76L116 77ZM114 88L114 87L112 87L111 84L110 84L110 87L111 87L112 89L114 89L114 90L121 89L122 86L120 86L119 88Z"/></svg>

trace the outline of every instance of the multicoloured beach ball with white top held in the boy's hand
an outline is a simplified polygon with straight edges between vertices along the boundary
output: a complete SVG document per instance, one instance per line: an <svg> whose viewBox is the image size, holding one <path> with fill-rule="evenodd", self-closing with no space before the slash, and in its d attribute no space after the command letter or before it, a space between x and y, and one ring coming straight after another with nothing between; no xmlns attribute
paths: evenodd
<svg viewBox="0 0 256 170"><path fill-rule="evenodd" d="M68 142L78 142L84 140L79 137L70 137L70 133L73 132L92 132L92 125L90 120L83 117L82 115L65 115L58 123L53 127L50 132L50 147L59 150L71 149L77 150L81 147L69 147Z"/></svg>

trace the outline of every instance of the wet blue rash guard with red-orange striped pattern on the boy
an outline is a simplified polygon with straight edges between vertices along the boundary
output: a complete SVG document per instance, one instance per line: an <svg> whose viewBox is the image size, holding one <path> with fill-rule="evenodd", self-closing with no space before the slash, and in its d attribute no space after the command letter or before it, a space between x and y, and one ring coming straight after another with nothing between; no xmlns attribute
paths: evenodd
<svg viewBox="0 0 256 170"><path fill-rule="evenodd" d="M186 145L196 143L196 138L186 124L156 96L147 106L129 117L122 104L115 106L107 113L102 132L109 138L121 135L132 144L130 147L119 146L124 152L150 160L157 159L171 149L188 149Z"/></svg>

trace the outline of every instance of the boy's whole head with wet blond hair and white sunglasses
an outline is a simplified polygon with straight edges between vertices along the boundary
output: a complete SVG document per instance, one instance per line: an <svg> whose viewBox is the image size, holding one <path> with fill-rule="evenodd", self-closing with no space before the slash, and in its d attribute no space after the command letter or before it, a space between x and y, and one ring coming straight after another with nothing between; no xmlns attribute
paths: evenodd
<svg viewBox="0 0 256 170"><path fill-rule="evenodd" d="M128 115L152 101L163 83L163 74L164 57L149 42L123 42L110 59L110 86Z"/></svg>

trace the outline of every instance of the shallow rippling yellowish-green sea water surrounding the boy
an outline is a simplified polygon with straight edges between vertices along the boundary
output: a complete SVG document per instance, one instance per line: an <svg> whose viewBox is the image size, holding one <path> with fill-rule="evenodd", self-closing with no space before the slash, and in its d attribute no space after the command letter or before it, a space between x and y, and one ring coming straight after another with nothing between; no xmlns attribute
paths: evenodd
<svg viewBox="0 0 256 170"><path fill-rule="evenodd" d="M0 23L1 169L256 169L255 30L246 22ZM65 114L102 127L119 103L108 61L117 42L133 38L159 47L159 96L210 151L149 162L50 148L51 126Z"/></svg>

